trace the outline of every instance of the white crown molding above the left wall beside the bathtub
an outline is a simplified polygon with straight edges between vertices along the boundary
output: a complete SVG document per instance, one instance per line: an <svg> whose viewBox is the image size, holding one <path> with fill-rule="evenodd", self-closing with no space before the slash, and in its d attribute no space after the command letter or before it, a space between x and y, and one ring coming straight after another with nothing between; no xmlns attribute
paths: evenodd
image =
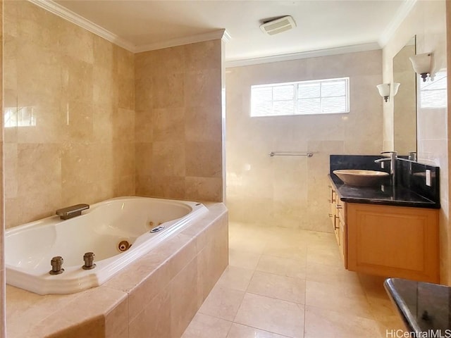
<svg viewBox="0 0 451 338"><path fill-rule="evenodd" d="M73 11L69 11L66 7L57 4L52 0L28 0L32 4L44 8L45 10L58 15L59 17L68 20L70 23L74 23L85 30L89 30L89 32L94 33L95 35L99 35L99 37L103 37L109 42L113 42L113 44L117 44L128 51L135 51L135 45L131 44L125 39L118 37L117 35L111 33L109 30L100 27L99 25L92 23L91 21L83 18L81 15L74 13Z"/></svg>

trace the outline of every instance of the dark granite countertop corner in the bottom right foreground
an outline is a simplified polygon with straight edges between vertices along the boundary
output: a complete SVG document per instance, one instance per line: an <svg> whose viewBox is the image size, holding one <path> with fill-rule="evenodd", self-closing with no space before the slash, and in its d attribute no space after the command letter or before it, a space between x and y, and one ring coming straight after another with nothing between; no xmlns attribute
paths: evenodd
<svg viewBox="0 0 451 338"><path fill-rule="evenodd" d="M409 337L451 337L451 287L401 278L384 287L409 331L441 333Z"/></svg>

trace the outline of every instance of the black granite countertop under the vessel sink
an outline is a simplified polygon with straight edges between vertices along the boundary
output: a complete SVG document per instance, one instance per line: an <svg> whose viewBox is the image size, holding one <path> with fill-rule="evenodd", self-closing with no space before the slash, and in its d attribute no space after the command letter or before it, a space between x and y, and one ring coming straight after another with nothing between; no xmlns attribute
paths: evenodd
<svg viewBox="0 0 451 338"><path fill-rule="evenodd" d="M393 192L391 185L382 186L383 188L352 187L344 184L334 174L329 174L329 178L340 200L344 202L440 209L440 204L403 187L396 187Z"/></svg>

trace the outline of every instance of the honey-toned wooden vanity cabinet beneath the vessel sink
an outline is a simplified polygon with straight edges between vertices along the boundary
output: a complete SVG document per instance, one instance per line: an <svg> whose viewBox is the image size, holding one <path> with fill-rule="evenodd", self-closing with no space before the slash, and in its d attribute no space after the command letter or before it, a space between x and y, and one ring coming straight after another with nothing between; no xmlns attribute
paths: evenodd
<svg viewBox="0 0 451 338"><path fill-rule="evenodd" d="M439 282L438 209L345 203L329 189L329 216L345 268Z"/></svg>

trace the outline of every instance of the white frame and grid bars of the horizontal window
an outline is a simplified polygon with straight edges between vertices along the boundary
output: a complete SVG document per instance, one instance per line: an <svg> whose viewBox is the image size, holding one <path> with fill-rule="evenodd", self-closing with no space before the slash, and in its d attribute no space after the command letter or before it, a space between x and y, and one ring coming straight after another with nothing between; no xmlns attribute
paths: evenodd
<svg viewBox="0 0 451 338"><path fill-rule="evenodd" d="M320 85L320 94L317 97L312 97L309 99L319 99L320 105L322 106L322 100L327 99L330 97L342 97L343 95L338 96L322 96L321 87L323 83L327 82L338 82L345 80L345 110L339 111L339 112L328 112L328 113L299 113L299 100L302 100L299 98L299 84L308 84L308 83L319 83ZM274 100L273 99L273 91L274 87L281 87L286 85L294 85L294 96L293 99L290 100ZM272 110L274 102L280 102L280 101L293 101L293 112L294 113L287 113L287 114L271 114L271 115L254 115L255 111L255 103L252 99L252 89L254 88L271 88L271 104L272 104ZM334 78L328 78L328 79L319 79L319 80L304 80L304 81L291 81L291 82L278 82L278 83L269 83L269 84L252 84L251 90L251 102L250 102L250 117L251 118L266 118L266 117L277 117L277 116L305 116L305 115L330 115L330 114L345 114L350 113L350 77L334 77Z"/></svg>

